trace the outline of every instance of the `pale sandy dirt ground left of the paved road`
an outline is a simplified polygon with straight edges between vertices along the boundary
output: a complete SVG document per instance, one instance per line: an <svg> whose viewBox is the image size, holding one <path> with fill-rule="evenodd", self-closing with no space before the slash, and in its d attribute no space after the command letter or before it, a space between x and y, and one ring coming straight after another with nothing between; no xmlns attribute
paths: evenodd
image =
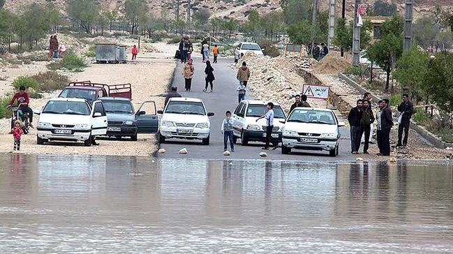
<svg viewBox="0 0 453 254"><path fill-rule="evenodd" d="M127 41L126 43L129 45L133 41ZM156 50L143 50L138 55L136 61L129 61L126 64L90 64L82 73L71 74L70 80L91 80L105 84L131 83L135 110L138 110L138 107L140 107L144 100L156 101L157 110L161 110L163 108L164 98L156 95L162 94L167 90L174 68L176 67L172 55L177 46L156 43L152 47L156 48ZM3 75L15 77L15 75L23 75L22 73L25 71L27 70L23 70L22 72L16 71L15 73L7 71L3 72ZM8 90L5 87L3 89ZM35 112L40 111L48 98L53 98L57 94L59 94L59 91L45 94L43 99L31 99L31 107ZM36 125L37 122L38 116L36 115L34 124ZM0 120L0 152L10 152L13 150L13 136L7 134L9 123L9 119ZM83 144L66 142L37 145L36 129L32 129L29 135L22 136L20 152L25 154L149 156L157 149L155 135L138 135L138 142L99 139L98 143L98 146L93 147L84 147Z"/></svg>

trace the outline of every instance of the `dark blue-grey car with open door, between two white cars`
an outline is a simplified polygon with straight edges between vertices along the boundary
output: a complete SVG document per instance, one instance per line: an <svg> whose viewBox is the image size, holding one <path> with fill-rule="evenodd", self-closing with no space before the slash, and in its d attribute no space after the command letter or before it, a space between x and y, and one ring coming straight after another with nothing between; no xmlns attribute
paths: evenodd
<svg viewBox="0 0 453 254"><path fill-rule="evenodd" d="M154 101L145 101L135 112L128 98L103 97L100 100L107 113L108 137L131 137L131 140L137 141L138 133L157 132L158 117Z"/></svg>

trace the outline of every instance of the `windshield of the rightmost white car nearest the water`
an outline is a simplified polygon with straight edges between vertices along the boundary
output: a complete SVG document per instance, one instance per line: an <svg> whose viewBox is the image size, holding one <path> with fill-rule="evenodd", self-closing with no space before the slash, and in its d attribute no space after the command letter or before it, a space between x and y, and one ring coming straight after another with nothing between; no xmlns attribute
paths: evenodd
<svg viewBox="0 0 453 254"><path fill-rule="evenodd" d="M292 110L288 117L288 122L290 121L311 124L336 124L332 112L317 110Z"/></svg>

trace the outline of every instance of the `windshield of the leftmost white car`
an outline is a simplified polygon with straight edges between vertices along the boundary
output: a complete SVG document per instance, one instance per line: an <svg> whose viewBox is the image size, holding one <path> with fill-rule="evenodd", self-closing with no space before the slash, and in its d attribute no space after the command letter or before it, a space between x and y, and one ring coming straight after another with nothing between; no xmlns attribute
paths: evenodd
<svg viewBox="0 0 453 254"><path fill-rule="evenodd" d="M50 100L43 109L43 114L81 114L89 115L91 110L82 101Z"/></svg>

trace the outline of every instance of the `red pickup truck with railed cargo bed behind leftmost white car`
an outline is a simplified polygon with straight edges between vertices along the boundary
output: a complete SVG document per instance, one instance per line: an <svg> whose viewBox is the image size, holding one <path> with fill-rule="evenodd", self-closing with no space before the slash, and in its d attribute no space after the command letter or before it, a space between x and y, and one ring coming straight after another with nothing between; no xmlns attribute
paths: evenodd
<svg viewBox="0 0 453 254"><path fill-rule="evenodd" d="M70 82L58 97L82 98L93 103L102 97L122 97L132 99L131 84L99 84L91 81Z"/></svg>

